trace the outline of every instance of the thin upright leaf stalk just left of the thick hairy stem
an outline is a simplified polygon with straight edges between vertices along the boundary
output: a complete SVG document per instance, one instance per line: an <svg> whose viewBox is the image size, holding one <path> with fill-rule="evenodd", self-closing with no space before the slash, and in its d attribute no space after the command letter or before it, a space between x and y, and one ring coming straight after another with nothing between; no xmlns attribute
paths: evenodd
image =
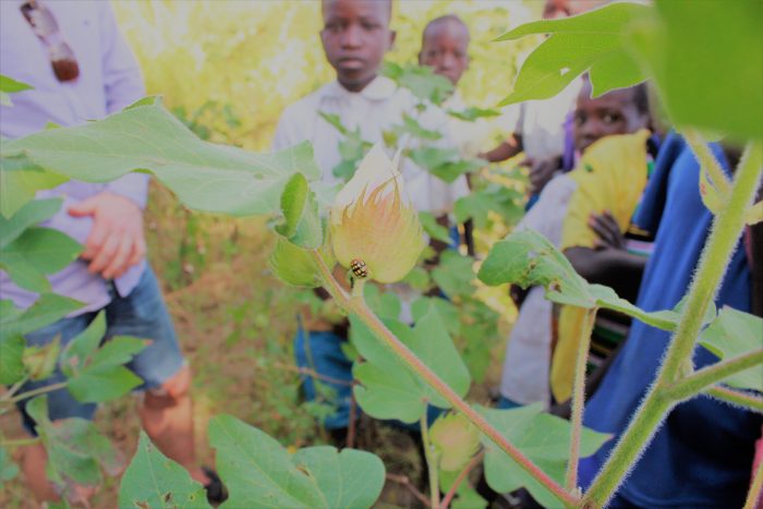
<svg viewBox="0 0 763 509"><path fill-rule="evenodd" d="M586 310L578 339L578 357L574 367L574 388L572 392L572 433L570 436L570 455L567 463L565 487L568 492L578 489L578 460L580 459L580 437L583 433L583 408L585 407L585 367L589 361L591 334L596 319L596 308Z"/></svg>

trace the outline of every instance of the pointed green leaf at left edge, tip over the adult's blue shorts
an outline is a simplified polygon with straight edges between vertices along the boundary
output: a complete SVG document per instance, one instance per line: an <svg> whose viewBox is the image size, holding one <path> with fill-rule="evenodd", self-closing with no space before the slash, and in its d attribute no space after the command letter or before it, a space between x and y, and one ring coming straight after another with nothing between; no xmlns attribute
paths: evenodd
<svg viewBox="0 0 763 509"><path fill-rule="evenodd" d="M53 324L68 314L82 307L82 303L74 299L57 295L55 293L44 293L26 311L13 311L13 303L2 302L0 314L0 338L15 335L26 335L37 329Z"/></svg>

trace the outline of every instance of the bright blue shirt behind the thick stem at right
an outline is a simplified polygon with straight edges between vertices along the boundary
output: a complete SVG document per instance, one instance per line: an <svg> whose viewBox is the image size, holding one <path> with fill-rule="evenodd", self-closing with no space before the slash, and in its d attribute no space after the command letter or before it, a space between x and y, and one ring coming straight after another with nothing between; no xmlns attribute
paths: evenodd
<svg viewBox="0 0 763 509"><path fill-rule="evenodd" d="M724 161L723 150L713 146ZM638 305L673 308L683 296L705 244L712 214L699 191L699 166L683 140L671 135L634 221L656 231L655 250L644 272ZM741 242L740 242L741 244ZM750 270L744 250L736 250L716 305L749 312ZM670 334L633 320L622 351L585 409L584 424L621 434L654 380ZM698 367L717 362L698 348ZM707 397L677 405L655 434L618 495L644 507L741 507L750 482L754 441L763 419ZM581 462L582 486L604 463L616 440Z"/></svg>

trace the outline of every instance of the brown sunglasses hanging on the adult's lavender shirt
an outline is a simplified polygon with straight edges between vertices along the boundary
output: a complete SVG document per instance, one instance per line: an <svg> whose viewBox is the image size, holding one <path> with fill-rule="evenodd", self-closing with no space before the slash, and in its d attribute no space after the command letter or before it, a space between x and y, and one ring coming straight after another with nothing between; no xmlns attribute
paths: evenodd
<svg viewBox="0 0 763 509"><path fill-rule="evenodd" d="M69 47L59 31L52 12L37 0L28 0L21 5L21 12L29 23L32 32L48 49L50 64L59 82L71 82L80 76L74 51Z"/></svg>

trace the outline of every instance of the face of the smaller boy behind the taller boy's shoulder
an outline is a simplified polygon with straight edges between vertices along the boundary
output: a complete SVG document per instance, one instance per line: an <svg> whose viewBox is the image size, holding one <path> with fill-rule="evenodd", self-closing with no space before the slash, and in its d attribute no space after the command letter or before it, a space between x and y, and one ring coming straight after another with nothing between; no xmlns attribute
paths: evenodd
<svg viewBox="0 0 763 509"><path fill-rule="evenodd" d="M457 85L469 66L469 32L460 23L445 21L424 33L419 64L428 65L436 74Z"/></svg>

